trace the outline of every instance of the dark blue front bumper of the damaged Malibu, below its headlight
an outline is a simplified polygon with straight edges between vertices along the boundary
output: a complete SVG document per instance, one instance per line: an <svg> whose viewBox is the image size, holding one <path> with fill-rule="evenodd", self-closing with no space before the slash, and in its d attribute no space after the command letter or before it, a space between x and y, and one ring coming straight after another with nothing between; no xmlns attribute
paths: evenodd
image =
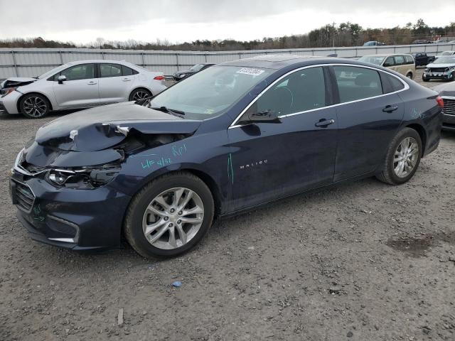
<svg viewBox="0 0 455 341"><path fill-rule="evenodd" d="M18 220L38 242L75 250L120 246L131 197L109 185L94 190L55 188L14 171L10 194Z"/></svg>

